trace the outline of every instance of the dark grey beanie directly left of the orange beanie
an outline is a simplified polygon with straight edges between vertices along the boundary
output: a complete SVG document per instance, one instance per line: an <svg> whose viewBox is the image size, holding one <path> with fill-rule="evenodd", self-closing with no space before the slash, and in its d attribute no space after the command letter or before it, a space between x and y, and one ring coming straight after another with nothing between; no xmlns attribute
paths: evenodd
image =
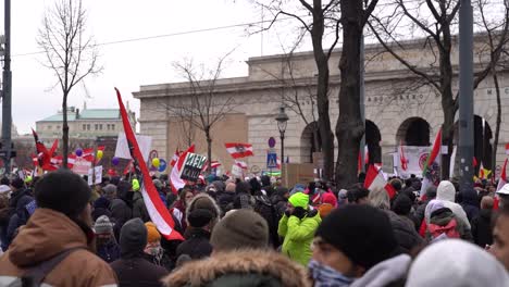
<svg viewBox="0 0 509 287"><path fill-rule="evenodd" d="M147 246L147 227L136 217L127 221L121 229L121 255L139 254Z"/></svg>

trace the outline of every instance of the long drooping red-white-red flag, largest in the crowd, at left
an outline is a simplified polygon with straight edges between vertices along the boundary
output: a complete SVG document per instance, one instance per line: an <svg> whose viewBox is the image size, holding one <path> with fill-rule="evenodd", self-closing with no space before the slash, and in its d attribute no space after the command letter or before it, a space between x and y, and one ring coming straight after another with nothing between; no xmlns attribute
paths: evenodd
<svg viewBox="0 0 509 287"><path fill-rule="evenodd" d="M159 192L156 189L152 179L150 178L147 164L145 163L144 157L141 155L141 151L138 147L138 141L136 140L136 136L131 126L129 118L127 116L127 111L125 110L124 103L122 102L122 96L119 89L115 88L115 90L122 115L122 124L124 125L125 137L127 139L127 145L129 147L131 155L133 158L133 163L135 165L136 172L139 176L141 176L139 179L139 192L141 192L144 197L145 205L147 207L147 211L150 215L150 219L158 227L158 230L167 240L184 240L182 235L173 229L175 226L173 217L170 214L170 211L162 202L161 198L159 197Z"/></svg>

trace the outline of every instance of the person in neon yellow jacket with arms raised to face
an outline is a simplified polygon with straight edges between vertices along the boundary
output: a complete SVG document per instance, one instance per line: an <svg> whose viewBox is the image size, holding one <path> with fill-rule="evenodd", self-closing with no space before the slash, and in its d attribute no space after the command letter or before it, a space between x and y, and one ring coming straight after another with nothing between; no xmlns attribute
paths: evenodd
<svg viewBox="0 0 509 287"><path fill-rule="evenodd" d="M320 223L316 210L309 210L309 196L297 192L288 199L288 208L280 221L277 233L284 237L282 252L305 266L311 259L311 244Z"/></svg>

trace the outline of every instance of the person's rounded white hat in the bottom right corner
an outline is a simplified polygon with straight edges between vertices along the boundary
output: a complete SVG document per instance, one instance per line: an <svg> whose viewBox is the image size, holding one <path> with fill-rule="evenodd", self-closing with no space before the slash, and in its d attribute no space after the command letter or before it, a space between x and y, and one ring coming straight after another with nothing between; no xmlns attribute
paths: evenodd
<svg viewBox="0 0 509 287"><path fill-rule="evenodd" d="M483 249L447 239L424 249L412 263L407 287L509 286L504 266Z"/></svg>

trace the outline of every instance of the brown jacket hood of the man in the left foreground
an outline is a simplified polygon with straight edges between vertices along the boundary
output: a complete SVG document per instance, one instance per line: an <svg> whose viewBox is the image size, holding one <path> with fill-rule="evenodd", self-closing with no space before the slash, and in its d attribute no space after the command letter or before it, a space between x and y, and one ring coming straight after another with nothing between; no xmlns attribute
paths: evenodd
<svg viewBox="0 0 509 287"><path fill-rule="evenodd" d="M63 213L37 209L10 246L9 258L24 267L73 247L87 247L83 229Z"/></svg>

